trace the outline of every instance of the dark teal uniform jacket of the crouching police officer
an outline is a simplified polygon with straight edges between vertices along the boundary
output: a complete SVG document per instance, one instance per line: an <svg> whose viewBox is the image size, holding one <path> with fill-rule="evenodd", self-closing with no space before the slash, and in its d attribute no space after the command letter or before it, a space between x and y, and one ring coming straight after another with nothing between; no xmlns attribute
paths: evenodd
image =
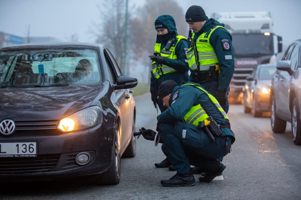
<svg viewBox="0 0 301 200"><path fill-rule="evenodd" d="M192 83L192 82L187 82ZM202 87L197 83L193 83L197 86ZM203 88L203 87L202 87ZM175 123L181 121L185 114L191 109L192 106L207 102L209 96L202 90L190 86L175 86L170 96L169 105L170 107L163 111L157 120L163 123ZM205 107L204 104L202 107ZM217 108L216 108L217 110ZM229 124L229 121L221 117L220 115L211 115L218 124ZM234 133L230 129L222 129L222 136L231 135L234 137Z"/></svg>

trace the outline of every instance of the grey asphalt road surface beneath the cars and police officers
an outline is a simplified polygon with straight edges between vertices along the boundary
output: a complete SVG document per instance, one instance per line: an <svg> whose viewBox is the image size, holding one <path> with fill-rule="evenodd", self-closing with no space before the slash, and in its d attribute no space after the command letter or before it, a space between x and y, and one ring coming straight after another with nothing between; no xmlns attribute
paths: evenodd
<svg viewBox="0 0 301 200"><path fill-rule="evenodd" d="M150 99L149 94L135 98L136 130L156 128ZM160 180L175 172L154 166L165 159L161 144L155 147L141 136L136 157L121 159L118 185L96 186L86 178L1 183L0 199L301 199L301 146L293 144L290 123L284 134L273 134L269 113L254 118L242 105L231 105L228 117L236 141L224 157L223 177L210 183L198 182L195 174L195 186L161 186Z"/></svg>

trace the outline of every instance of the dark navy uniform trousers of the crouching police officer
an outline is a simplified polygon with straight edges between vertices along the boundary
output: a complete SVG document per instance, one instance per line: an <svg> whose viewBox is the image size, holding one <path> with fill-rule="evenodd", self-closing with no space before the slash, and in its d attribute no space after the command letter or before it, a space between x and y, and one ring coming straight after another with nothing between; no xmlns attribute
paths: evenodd
<svg viewBox="0 0 301 200"><path fill-rule="evenodd" d="M231 132L230 129L222 129L223 133L227 131ZM181 122L163 123L160 138L169 161L181 174L187 173L190 165L210 170L218 158L230 152L233 143L230 135L216 137L216 141L212 141L202 129Z"/></svg>

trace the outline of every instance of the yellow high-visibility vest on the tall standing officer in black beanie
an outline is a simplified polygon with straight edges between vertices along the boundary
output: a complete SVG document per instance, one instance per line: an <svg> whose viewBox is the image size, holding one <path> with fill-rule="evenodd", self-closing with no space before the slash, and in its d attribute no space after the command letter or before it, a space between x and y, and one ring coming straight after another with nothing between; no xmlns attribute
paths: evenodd
<svg viewBox="0 0 301 200"><path fill-rule="evenodd" d="M211 46L209 39L213 31L223 26L214 26L208 32L202 33L198 38L194 47L190 47L187 51L188 65L191 70L196 70L200 66L199 71L208 71L210 66L215 65L215 70L219 70L219 61L216 57L213 47ZM192 39L194 38L192 34ZM219 70L220 72L220 70Z"/></svg>

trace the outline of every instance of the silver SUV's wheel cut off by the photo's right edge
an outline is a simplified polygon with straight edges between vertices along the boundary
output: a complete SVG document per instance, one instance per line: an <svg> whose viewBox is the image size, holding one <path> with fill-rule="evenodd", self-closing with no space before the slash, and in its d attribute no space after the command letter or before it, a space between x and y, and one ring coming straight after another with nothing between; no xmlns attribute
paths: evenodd
<svg viewBox="0 0 301 200"><path fill-rule="evenodd" d="M301 145L301 122L300 122L300 109L298 104L298 99L295 98L292 104L291 111L291 120L292 120L292 135L293 142L296 145Z"/></svg>

